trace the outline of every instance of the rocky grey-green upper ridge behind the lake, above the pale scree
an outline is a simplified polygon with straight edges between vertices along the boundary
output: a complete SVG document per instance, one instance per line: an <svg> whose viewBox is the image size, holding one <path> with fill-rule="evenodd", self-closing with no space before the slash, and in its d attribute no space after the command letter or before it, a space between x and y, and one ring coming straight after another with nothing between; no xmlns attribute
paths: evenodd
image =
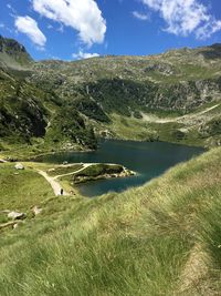
<svg viewBox="0 0 221 296"><path fill-rule="evenodd" d="M108 112L137 109L192 110L220 100L221 45L182 49L151 57L102 57L78 62L43 61L32 81L66 98L81 91ZM135 100L136 96L136 100ZM124 100L123 100L124 99ZM113 101L110 108L109 101ZM129 105L128 105L129 104ZM107 108L108 106L108 108Z"/></svg>

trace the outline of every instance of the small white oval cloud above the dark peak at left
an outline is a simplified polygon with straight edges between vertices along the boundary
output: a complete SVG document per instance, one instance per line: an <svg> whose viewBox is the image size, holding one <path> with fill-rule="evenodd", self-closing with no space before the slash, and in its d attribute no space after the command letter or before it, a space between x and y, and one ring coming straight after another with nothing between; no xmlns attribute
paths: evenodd
<svg viewBox="0 0 221 296"><path fill-rule="evenodd" d="M30 17L17 17L14 21L15 28L21 33L27 34L33 43L43 48L46 43L46 38L39 29L38 23L34 19Z"/></svg>

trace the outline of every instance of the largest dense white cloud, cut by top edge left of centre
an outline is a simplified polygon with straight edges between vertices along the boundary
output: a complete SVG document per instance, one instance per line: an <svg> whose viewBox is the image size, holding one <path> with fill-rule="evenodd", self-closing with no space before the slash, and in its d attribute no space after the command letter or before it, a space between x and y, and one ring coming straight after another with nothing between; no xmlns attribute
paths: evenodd
<svg viewBox="0 0 221 296"><path fill-rule="evenodd" d="M94 0L32 0L33 9L41 16L78 31L87 45L103 43L106 21Z"/></svg>

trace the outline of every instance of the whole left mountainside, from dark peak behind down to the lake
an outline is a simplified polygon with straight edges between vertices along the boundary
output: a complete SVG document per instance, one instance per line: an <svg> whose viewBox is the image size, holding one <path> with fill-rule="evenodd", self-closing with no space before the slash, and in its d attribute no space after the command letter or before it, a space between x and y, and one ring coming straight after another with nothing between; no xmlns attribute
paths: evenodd
<svg viewBox="0 0 221 296"><path fill-rule="evenodd" d="M27 80L33 63L23 45L0 37L0 151L95 149L93 129L75 105Z"/></svg>

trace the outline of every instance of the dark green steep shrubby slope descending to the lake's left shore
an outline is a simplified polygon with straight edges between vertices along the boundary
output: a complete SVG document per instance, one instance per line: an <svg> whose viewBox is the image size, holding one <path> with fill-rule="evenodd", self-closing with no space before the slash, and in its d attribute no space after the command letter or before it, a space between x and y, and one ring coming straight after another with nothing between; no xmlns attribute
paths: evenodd
<svg viewBox="0 0 221 296"><path fill-rule="evenodd" d="M1 70L0 89L0 149L6 143L34 142L36 152L38 146L40 151L96 147L93 130L74 105L67 108L53 92Z"/></svg>

